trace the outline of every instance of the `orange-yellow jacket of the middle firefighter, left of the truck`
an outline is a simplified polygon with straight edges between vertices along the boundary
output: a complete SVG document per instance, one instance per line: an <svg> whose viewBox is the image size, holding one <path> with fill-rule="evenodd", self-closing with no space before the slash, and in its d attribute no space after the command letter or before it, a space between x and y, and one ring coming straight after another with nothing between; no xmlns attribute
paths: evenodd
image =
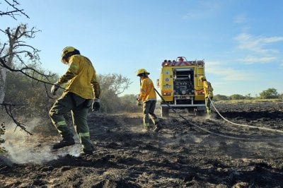
<svg viewBox="0 0 283 188"><path fill-rule="evenodd" d="M150 78L144 78L141 81L141 87L139 91L139 100L142 102L148 100L156 100L156 93L154 90L154 83L151 81Z"/></svg>

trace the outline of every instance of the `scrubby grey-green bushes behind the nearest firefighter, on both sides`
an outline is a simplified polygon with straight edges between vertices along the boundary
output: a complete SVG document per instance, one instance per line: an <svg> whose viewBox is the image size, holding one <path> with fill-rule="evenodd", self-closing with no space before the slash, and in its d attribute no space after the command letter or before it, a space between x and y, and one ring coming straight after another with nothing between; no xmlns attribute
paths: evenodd
<svg viewBox="0 0 283 188"><path fill-rule="evenodd" d="M54 83L59 76L54 76L50 81ZM135 112L139 110L136 105L135 95L124 95L120 97L132 83L129 78L120 74L98 74L101 88L100 112ZM6 78L6 90L4 101L10 104L21 104L15 108L15 117L25 118L47 117L54 100L58 98L63 90L59 90L56 96L50 92L51 85L45 88L43 83L34 81L21 73L8 72Z"/></svg>

